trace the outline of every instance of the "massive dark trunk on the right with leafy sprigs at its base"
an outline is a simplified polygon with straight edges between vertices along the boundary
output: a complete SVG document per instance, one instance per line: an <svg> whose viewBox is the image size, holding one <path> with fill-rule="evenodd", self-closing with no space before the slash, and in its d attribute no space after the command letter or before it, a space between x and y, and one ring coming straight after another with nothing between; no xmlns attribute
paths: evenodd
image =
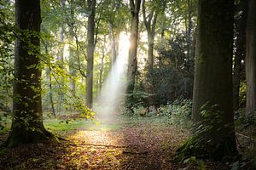
<svg viewBox="0 0 256 170"><path fill-rule="evenodd" d="M189 152L216 160L237 154L232 100L233 6L233 0L199 1L192 109L197 146Z"/></svg>

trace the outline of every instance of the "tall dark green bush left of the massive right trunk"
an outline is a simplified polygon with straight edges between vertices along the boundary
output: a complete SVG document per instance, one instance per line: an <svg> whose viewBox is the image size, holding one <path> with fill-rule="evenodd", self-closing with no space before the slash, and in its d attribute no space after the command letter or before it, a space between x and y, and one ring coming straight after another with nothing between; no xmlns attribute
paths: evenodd
<svg viewBox="0 0 256 170"><path fill-rule="evenodd" d="M194 58L189 58L186 54L185 41L181 34L176 39L157 46L161 54L157 58L158 64L148 69L145 77L154 87L158 105L172 103L181 96L192 99Z"/></svg>

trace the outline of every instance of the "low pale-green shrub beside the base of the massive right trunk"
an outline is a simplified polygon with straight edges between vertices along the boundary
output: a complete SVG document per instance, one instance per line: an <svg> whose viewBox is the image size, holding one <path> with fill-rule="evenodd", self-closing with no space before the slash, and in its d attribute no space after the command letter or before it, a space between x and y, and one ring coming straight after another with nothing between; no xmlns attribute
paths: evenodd
<svg viewBox="0 0 256 170"><path fill-rule="evenodd" d="M192 102L189 99L175 100L172 104L160 106L160 116L166 116L168 122L183 127L191 126Z"/></svg>

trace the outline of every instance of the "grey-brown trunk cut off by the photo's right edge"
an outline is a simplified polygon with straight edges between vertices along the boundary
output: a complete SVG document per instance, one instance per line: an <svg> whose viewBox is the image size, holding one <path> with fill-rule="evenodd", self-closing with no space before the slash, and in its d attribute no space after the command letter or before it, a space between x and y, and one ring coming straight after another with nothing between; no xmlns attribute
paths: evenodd
<svg viewBox="0 0 256 170"><path fill-rule="evenodd" d="M247 116L255 116L256 111L256 1L248 0L246 80Z"/></svg>

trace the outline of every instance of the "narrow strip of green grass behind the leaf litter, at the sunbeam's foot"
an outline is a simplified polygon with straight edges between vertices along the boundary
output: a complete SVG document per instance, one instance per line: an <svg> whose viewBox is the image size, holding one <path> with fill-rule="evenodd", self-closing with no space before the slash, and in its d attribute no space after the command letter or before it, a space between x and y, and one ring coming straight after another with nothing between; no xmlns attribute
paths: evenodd
<svg viewBox="0 0 256 170"><path fill-rule="evenodd" d="M168 126L168 121L164 116L119 116L115 122L96 122L85 119L75 119L73 121L66 121L60 118L44 118L44 127L51 132L68 132L76 129L86 129L86 130L119 130L124 126L134 127L140 126L140 123L153 123L160 124L161 126ZM1 133L8 133L11 127L11 119L7 117L4 120L4 128L0 129Z"/></svg>

